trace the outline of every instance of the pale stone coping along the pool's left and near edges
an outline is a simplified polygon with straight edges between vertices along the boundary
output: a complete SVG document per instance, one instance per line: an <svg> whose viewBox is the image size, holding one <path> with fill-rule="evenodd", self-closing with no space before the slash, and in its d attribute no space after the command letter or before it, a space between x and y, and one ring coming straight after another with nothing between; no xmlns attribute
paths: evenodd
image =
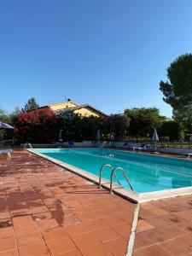
<svg viewBox="0 0 192 256"><path fill-rule="evenodd" d="M52 163L55 163L58 166L61 166L67 171L73 172L80 177L84 177L88 180L90 180L93 183L98 184L99 183L99 177L96 177L96 175L93 175L89 172L85 172L84 170L68 165L67 163L62 162L61 160L55 160L52 157L49 157L45 154L40 154L31 148L26 149L28 152L31 152L32 154L36 154L45 160L49 160ZM110 188L110 183L102 178L102 187L104 189ZM166 198L172 198L180 195L192 195L192 187L184 187L179 189L166 189L166 190L160 190L160 191L154 191L154 192L148 192L148 193L137 193L128 189L119 188L119 186L113 184L113 193L120 195L130 201L134 201L136 203L143 203L148 201L157 201L160 199L166 199Z"/></svg>

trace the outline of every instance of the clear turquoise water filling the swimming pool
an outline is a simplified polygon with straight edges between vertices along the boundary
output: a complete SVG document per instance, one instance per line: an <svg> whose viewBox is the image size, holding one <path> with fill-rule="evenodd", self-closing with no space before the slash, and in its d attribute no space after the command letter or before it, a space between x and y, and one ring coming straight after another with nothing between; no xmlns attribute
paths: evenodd
<svg viewBox="0 0 192 256"><path fill-rule="evenodd" d="M192 161L178 160L148 154L123 152L106 148L49 148L33 149L85 172L99 175L103 164L122 167L137 193L164 189L189 187L192 184ZM130 189L121 172L117 172L120 183ZM105 169L102 177L110 179L110 170ZM114 180L115 182L115 180Z"/></svg>

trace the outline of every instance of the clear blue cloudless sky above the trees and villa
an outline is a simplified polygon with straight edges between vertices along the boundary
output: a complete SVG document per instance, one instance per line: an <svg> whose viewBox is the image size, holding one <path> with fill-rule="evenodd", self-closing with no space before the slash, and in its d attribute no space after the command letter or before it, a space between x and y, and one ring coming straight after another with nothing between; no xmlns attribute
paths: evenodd
<svg viewBox="0 0 192 256"><path fill-rule="evenodd" d="M106 113L160 108L160 79L192 52L191 0L0 1L0 106L65 96Z"/></svg>

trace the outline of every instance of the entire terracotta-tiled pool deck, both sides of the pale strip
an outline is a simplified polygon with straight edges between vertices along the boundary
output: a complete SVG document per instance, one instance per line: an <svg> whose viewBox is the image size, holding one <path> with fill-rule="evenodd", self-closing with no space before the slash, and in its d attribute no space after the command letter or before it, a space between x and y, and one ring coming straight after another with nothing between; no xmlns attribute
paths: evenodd
<svg viewBox="0 0 192 256"><path fill-rule="evenodd" d="M0 160L0 256L125 255L135 207L15 151ZM141 204L133 255L192 255L192 195Z"/></svg>

